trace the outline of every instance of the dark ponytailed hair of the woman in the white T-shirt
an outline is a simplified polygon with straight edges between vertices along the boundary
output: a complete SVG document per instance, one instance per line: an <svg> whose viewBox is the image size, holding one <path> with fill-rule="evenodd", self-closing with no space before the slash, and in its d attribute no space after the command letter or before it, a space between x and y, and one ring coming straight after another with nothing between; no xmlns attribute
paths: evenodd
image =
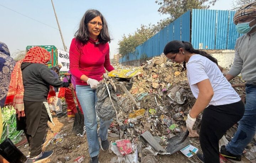
<svg viewBox="0 0 256 163"><path fill-rule="evenodd" d="M168 42L165 45L164 54L166 55L168 53L178 53L180 51L180 48L183 48L185 51L190 52L190 53L200 54L201 56L204 56L204 57L210 59L212 62L214 62L218 65L218 61L216 58L214 58L212 55L206 53L205 51L194 49L192 44L190 42L186 42L186 41L174 40L174 41ZM183 68L181 71L184 71L186 69L187 69L186 62L183 61Z"/></svg>

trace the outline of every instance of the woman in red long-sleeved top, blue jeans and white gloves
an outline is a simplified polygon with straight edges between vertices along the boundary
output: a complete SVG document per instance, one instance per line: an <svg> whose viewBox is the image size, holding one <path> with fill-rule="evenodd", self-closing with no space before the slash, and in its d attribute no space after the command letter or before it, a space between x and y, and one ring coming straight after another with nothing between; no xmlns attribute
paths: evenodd
<svg viewBox="0 0 256 163"><path fill-rule="evenodd" d="M100 146L102 150L107 150L109 147L107 129L111 120L100 120L99 146L95 103L98 81L102 80L105 69L107 71L114 69L110 64L108 45L110 40L107 22L102 14L97 10L87 10L69 50L70 71L76 77L76 94L85 117L90 163L98 163Z"/></svg>

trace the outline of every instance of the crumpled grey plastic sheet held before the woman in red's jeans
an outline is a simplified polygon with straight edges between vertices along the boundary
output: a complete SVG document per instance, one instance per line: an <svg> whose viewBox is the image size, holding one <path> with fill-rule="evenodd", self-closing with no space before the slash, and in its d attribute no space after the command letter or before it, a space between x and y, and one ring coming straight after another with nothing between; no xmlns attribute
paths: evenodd
<svg viewBox="0 0 256 163"><path fill-rule="evenodd" d="M113 101L114 107L117 110L117 113L119 112L121 106L119 104L119 100L117 98L116 94L113 94L114 92L113 87L111 84L108 84L108 88L110 88L110 95L111 99ZM98 117L100 117L103 121L111 120L116 116L116 111L111 103L111 99L108 96L107 87L105 83L100 83L96 90L97 95L97 105L96 105L96 111Z"/></svg>

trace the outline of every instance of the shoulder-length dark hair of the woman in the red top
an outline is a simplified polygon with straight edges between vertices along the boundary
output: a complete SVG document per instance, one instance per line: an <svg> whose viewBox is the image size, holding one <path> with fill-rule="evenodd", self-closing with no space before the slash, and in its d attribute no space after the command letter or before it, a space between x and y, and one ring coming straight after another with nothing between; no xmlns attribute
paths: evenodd
<svg viewBox="0 0 256 163"><path fill-rule="evenodd" d="M79 29L75 33L75 38L81 43L87 43L89 40L89 31L87 24L95 17L100 16L103 28L101 29L100 35L98 36L98 41L102 43L110 42L110 35L108 33L108 25L106 19L98 10L87 10L82 17L79 25Z"/></svg>

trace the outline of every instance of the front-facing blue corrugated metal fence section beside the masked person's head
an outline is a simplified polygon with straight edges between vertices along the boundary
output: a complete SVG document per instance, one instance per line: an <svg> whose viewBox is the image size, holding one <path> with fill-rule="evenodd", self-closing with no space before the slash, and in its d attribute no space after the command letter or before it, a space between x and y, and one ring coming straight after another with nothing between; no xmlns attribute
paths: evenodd
<svg viewBox="0 0 256 163"><path fill-rule="evenodd" d="M239 34L233 23L235 11L192 10L191 43L196 49L234 49Z"/></svg>

